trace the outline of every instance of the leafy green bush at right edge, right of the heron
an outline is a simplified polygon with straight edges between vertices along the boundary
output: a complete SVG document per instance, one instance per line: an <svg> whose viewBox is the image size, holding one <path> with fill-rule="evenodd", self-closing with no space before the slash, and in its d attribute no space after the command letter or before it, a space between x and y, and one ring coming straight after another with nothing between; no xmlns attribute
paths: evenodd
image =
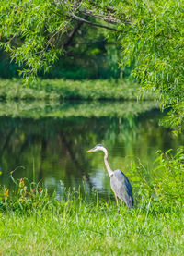
<svg viewBox="0 0 184 256"><path fill-rule="evenodd" d="M169 150L157 152L155 160L155 192L159 201L170 204L183 204L184 198L184 148L178 148L176 154Z"/></svg>

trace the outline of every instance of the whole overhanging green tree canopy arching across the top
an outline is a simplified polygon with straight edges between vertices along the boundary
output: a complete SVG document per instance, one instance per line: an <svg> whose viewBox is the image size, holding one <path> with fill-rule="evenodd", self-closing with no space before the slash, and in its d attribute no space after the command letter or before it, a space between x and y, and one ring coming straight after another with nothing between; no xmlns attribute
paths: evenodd
<svg viewBox="0 0 184 256"><path fill-rule="evenodd" d="M87 26L106 29L121 43L122 67L132 63L133 76L145 89L157 91L163 107L172 106L169 125L184 117L183 0L2 0L1 46L26 68L31 79L47 72L64 55L75 31Z"/></svg>

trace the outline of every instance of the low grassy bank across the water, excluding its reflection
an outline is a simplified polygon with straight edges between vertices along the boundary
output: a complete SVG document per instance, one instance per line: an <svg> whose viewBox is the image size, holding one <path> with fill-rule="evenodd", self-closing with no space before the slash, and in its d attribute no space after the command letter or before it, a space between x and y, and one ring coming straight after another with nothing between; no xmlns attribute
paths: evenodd
<svg viewBox="0 0 184 256"><path fill-rule="evenodd" d="M137 100L139 86L128 80L64 79L38 80L25 87L19 79L0 80L1 100ZM144 100L153 100L154 93L144 93Z"/></svg>

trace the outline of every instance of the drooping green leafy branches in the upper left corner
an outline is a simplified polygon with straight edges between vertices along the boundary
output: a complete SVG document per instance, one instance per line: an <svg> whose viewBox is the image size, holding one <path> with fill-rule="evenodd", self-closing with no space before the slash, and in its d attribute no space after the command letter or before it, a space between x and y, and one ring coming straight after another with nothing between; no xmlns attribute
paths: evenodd
<svg viewBox="0 0 184 256"><path fill-rule="evenodd" d="M1 45L19 65L26 65L21 71L23 76L31 78L42 67L48 71L48 63L53 64L61 53L52 46L52 36L64 32L67 26L63 18L54 14L52 2L2 1L0 13L0 32L4 39Z"/></svg>

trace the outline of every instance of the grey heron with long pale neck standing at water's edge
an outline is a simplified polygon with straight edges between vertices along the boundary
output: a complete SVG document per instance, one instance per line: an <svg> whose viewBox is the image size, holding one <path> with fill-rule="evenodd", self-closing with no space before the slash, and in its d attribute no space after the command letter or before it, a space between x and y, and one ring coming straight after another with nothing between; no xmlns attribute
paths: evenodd
<svg viewBox="0 0 184 256"><path fill-rule="evenodd" d="M121 201L124 201L126 205L130 208L133 206L133 197L132 197L132 186L128 178L121 172L121 170L112 171L108 162L108 151L101 144L95 146L95 148L87 152L104 152L104 163L106 165L109 177L110 177L110 186L113 190L118 205L118 198Z"/></svg>

